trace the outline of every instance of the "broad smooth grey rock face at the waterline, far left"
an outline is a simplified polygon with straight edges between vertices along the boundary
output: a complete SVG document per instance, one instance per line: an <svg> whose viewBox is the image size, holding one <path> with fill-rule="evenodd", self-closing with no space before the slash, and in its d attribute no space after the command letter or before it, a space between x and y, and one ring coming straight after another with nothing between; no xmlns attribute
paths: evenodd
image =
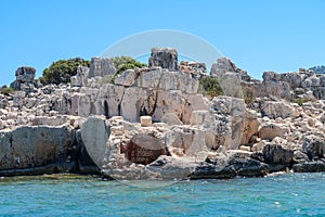
<svg viewBox="0 0 325 217"><path fill-rule="evenodd" d="M66 127L20 127L1 132L1 169L24 169L74 162L74 132ZM53 168L54 169L54 168ZM70 165L67 171L73 170Z"/></svg>

